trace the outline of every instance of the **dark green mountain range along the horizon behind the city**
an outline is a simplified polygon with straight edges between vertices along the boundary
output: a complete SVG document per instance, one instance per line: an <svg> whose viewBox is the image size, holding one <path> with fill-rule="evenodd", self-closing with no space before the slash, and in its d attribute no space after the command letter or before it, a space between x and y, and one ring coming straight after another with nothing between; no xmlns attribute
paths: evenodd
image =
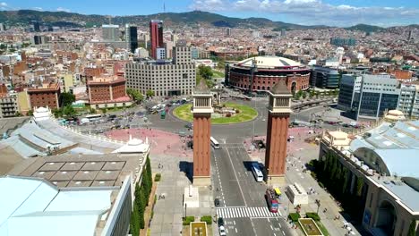
<svg viewBox="0 0 419 236"><path fill-rule="evenodd" d="M93 27L109 22L109 16L97 14L79 14L66 12L39 12L33 10L0 11L0 22L6 25L28 25L31 21L40 21L46 25L67 26L67 27ZM332 28L325 25L299 25L282 21L270 21L266 18L235 18L227 17L216 13L193 11L188 13L157 13L150 15L128 15L115 16L111 18L113 24L124 25L132 23L136 25L147 25L150 20L158 19L165 22L167 27L189 25L192 27L230 27L230 28L272 28L282 29L327 29ZM418 28L417 25L413 25ZM346 30L362 30L375 32L386 30L378 26L358 24L345 28Z"/></svg>

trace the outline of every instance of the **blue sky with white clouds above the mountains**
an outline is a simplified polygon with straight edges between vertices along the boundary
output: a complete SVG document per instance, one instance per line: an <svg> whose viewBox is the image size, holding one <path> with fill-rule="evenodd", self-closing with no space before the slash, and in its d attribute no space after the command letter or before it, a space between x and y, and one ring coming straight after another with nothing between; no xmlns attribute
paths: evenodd
<svg viewBox="0 0 419 236"><path fill-rule="evenodd" d="M166 12L201 10L307 25L419 24L419 0L4 0L0 9L134 15L161 13L163 4Z"/></svg>

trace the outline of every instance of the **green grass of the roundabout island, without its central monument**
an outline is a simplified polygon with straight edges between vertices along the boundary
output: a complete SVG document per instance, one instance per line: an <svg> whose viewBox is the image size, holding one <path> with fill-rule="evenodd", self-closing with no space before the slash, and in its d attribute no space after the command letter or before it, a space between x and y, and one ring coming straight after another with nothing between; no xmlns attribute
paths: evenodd
<svg viewBox="0 0 419 236"><path fill-rule="evenodd" d="M258 112L248 105L239 105L235 103L225 103L227 107L233 107L240 111L239 114L236 114L232 117L217 117L211 118L212 124L228 124L228 123L239 123L239 122L249 122L252 121ZM191 104L181 105L175 108L173 114L181 120L192 122L192 113L191 113Z"/></svg>

